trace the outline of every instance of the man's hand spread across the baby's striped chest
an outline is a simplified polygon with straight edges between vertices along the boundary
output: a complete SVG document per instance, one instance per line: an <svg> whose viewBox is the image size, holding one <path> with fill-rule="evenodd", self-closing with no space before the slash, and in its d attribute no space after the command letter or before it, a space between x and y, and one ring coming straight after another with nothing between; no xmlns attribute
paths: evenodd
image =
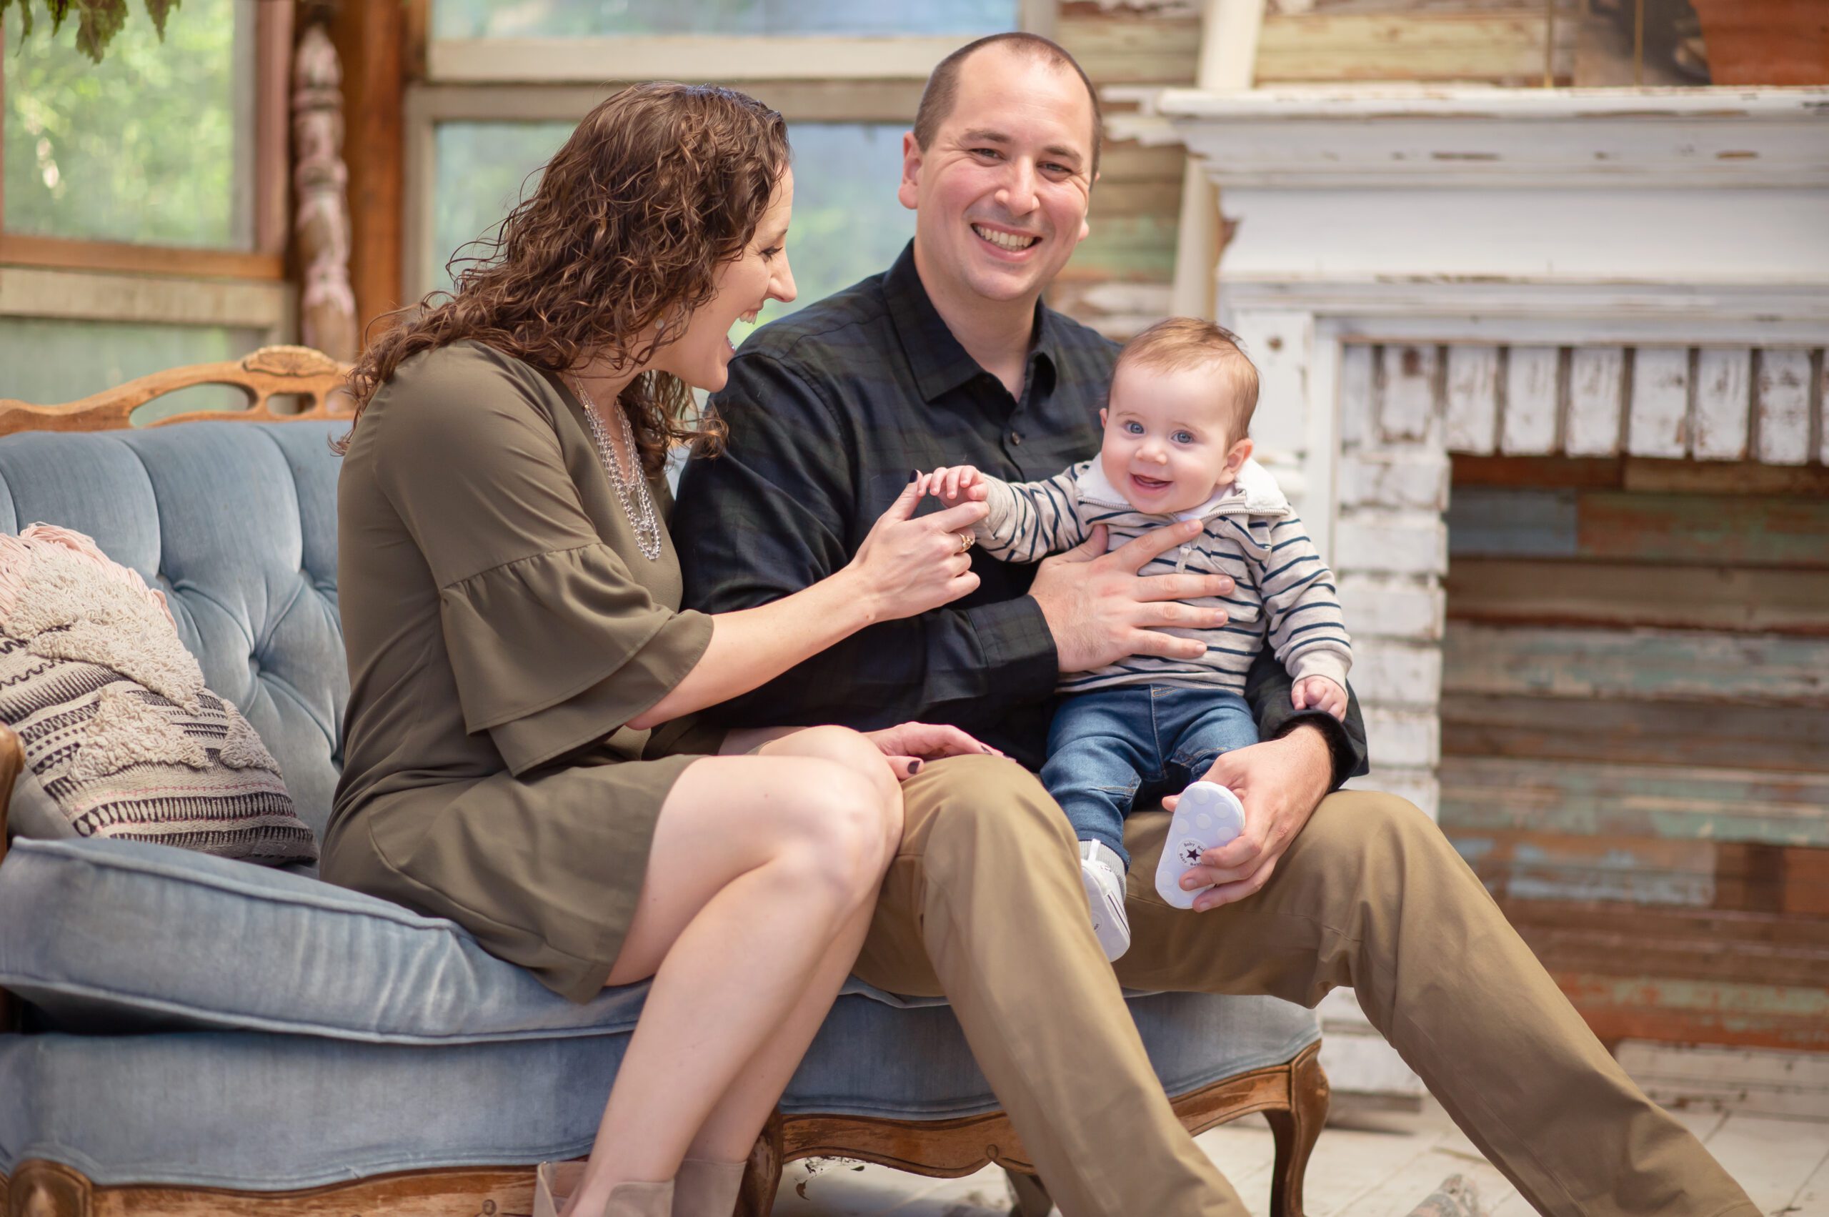
<svg viewBox="0 0 1829 1217"><path fill-rule="evenodd" d="M1202 527L1200 520L1185 520L1105 553L1101 523L1085 544L1041 564L1030 595L1048 619L1061 672L1090 672L1125 655L1200 659L1207 652L1205 642L1163 633L1163 628L1224 626L1225 609L1182 602L1229 595L1233 580L1224 575L1138 575L1150 558L1200 536Z"/></svg>

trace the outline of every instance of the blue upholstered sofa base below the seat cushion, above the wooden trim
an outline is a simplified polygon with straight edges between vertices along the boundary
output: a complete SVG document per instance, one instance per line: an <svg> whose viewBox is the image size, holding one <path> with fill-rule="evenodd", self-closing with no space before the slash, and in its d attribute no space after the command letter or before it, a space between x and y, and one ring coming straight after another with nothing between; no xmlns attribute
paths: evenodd
<svg viewBox="0 0 1829 1217"><path fill-rule="evenodd" d="M1130 1010L1171 1094L1317 1038L1271 997L1158 994ZM583 1155L627 1036L424 1049L311 1036L0 1036L0 1171L283 1191L435 1166ZM781 1107L942 1120L993 1111L953 1012L840 997ZM338 1210L327 1210L338 1212Z"/></svg>

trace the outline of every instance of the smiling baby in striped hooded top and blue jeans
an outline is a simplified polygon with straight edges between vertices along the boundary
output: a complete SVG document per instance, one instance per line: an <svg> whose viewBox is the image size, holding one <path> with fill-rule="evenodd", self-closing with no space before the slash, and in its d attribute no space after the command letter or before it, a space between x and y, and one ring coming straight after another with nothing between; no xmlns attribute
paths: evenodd
<svg viewBox="0 0 1829 1217"><path fill-rule="evenodd" d="M1070 695L1048 732L1041 780L1079 836L1094 930L1110 959L1130 948L1125 816L1141 787L1180 791L1222 752L1257 743L1244 688L1266 633L1295 679L1295 708L1346 714L1352 644L1333 573L1277 481L1251 459L1257 392L1257 368L1235 335L1172 317L1119 351L1096 459L1046 481L1008 483L971 465L925 474L924 490L947 505L989 505L975 531L991 556L1039 562L1079 545L1099 523L1116 549L1178 520L1200 520L1198 536L1141 573L1235 582L1227 597L1193 602L1224 608L1224 626L1169 630L1205 642L1198 659L1130 655L1061 677L1059 692Z"/></svg>

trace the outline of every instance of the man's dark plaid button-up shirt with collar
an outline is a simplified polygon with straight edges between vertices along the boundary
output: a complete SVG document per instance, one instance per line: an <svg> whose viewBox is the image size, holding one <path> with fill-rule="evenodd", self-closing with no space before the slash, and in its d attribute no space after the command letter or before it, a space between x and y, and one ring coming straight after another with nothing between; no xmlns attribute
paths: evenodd
<svg viewBox="0 0 1829 1217"><path fill-rule="evenodd" d="M1116 357L1114 342L1037 304L1022 397L1011 397L935 311L913 245L887 273L763 326L711 397L726 452L691 459L680 478L671 527L684 604L755 608L832 575L918 468L973 463L1030 481L1090 458ZM733 727L955 723L1039 767L1059 664L1026 595L1035 567L973 551L973 569L969 597L861 630L711 714ZM1266 739L1315 721L1335 780L1363 772L1357 703L1344 728L1295 714L1267 652L1246 695Z"/></svg>

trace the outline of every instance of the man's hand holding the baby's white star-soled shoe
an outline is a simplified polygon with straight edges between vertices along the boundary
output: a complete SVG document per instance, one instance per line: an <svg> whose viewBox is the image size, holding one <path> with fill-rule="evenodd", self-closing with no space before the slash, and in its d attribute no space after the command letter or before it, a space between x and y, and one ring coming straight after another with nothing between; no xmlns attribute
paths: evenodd
<svg viewBox="0 0 1829 1217"><path fill-rule="evenodd" d="M1315 814L1332 776L1333 759L1319 727L1297 727L1282 739L1222 754L1202 780L1238 796L1246 831L1200 855L1200 866L1182 877L1187 889L1214 884L1194 899L1194 911L1244 900L1267 884L1282 851ZM1174 811L1176 802L1180 794L1171 794L1163 807Z"/></svg>

